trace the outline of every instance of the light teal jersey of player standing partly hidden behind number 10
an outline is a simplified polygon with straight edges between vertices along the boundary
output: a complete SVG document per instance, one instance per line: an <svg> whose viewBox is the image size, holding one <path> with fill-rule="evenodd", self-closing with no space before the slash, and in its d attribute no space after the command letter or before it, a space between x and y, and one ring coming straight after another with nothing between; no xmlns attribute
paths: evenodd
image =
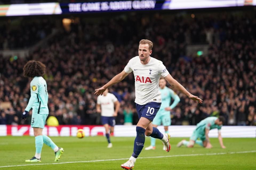
<svg viewBox="0 0 256 170"><path fill-rule="evenodd" d="M159 109L159 111L164 110L166 107L170 107L173 109L180 101L179 96L170 88L164 87L163 89L159 88L159 91L161 92L162 97L162 104ZM172 105L170 105L171 98L174 99L174 102Z"/></svg>

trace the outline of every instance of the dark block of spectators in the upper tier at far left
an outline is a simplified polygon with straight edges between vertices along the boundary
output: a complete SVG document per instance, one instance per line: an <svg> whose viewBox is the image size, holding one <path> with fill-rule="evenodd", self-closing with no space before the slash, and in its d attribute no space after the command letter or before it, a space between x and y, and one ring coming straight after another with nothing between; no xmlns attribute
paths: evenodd
<svg viewBox="0 0 256 170"><path fill-rule="evenodd" d="M48 18L40 21L3 20L0 24L0 50L28 48L51 34L53 26Z"/></svg>

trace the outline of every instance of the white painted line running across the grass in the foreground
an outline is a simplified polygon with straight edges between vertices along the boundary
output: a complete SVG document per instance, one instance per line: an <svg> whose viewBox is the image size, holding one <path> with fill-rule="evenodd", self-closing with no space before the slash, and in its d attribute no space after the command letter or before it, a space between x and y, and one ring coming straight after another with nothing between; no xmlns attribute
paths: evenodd
<svg viewBox="0 0 256 170"><path fill-rule="evenodd" d="M169 158L169 157L179 157L179 156L204 156L204 155L207 156L207 155L225 155L225 154L244 154L244 153L253 153L253 152L256 152L256 151L222 152L222 153L211 153L211 154L167 155L167 156L141 157L141 158L138 158L138 159ZM129 158L88 160L88 161L75 161L75 162L59 162L59 163L47 163L47 164L10 165L10 166L1 166L0 168L6 168L6 167L21 167L21 166L31 166L31 165L55 165L55 164L70 164L70 163L102 162L102 161L116 161L116 160L126 160L126 159L129 159Z"/></svg>

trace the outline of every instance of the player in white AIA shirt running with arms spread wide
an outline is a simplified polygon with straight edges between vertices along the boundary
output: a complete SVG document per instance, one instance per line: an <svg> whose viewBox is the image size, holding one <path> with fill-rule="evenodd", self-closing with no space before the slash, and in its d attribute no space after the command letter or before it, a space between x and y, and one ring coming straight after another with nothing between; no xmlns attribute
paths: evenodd
<svg viewBox="0 0 256 170"><path fill-rule="evenodd" d="M166 70L163 63L150 56L153 43L149 40L139 42L139 56L133 57L125 66L125 69L113 77L107 84L96 89L95 95L102 95L110 86L123 80L133 71L135 79L135 103L139 116L136 127L137 136L134 141L133 154L130 159L121 165L124 169L133 169L145 142L145 135L160 139L165 145L165 150L170 151L169 134L162 134L157 128L152 126L152 121L161 106L161 93L159 91L159 78L164 77L174 88L188 96L197 103L202 100L190 94L181 84L179 84Z"/></svg>

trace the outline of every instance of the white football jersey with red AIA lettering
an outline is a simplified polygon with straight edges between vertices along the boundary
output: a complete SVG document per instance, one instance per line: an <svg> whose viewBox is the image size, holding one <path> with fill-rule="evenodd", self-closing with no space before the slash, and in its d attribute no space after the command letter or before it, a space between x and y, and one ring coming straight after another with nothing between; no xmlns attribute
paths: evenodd
<svg viewBox="0 0 256 170"><path fill-rule="evenodd" d="M133 71L135 79L135 103L143 105L149 102L161 102L159 78L166 77L169 72L163 62L150 57L149 63L143 65L139 56L133 57L125 66L125 72Z"/></svg>

